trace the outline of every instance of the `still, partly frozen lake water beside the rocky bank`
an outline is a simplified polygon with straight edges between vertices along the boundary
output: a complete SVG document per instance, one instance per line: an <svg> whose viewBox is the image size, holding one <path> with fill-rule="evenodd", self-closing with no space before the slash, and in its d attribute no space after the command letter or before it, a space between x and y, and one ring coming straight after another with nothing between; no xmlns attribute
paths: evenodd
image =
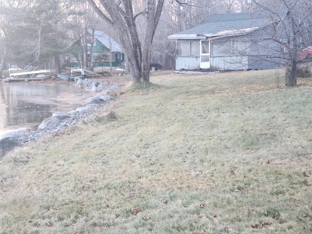
<svg viewBox="0 0 312 234"><path fill-rule="evenodd" d="M12 130L37 130L54 112L75 110L93 95L66 84L0 82L0 137Z"/></svg>

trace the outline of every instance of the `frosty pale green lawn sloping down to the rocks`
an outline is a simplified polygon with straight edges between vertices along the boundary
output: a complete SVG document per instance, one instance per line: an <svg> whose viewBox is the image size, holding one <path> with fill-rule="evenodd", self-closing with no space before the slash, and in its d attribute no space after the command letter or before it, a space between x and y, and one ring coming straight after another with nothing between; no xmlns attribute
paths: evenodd
<svg viewBox="0 0 312 234"><path fill-rule="evenodd" d="M312 78L282 76L152 73L3 158L0 234L312 233Z"/></svg>

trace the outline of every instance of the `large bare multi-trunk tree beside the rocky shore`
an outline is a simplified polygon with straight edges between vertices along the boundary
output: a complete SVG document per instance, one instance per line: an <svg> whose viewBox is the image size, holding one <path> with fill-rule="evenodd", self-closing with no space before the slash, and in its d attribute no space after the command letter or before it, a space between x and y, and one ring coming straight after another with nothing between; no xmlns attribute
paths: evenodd
<svg viewBox="0 0 312 234"><path fill-rule="evenodd" d="M138 1L140 11L132 0L88 0L98 15L108 22L119 35L119 42L128 57L128 66L134 83L149 82L151 45L161 15L164 0ZM144 4L143 4L144 3ZM143 39L137 31L137 17L146 17Z"/></svg>

